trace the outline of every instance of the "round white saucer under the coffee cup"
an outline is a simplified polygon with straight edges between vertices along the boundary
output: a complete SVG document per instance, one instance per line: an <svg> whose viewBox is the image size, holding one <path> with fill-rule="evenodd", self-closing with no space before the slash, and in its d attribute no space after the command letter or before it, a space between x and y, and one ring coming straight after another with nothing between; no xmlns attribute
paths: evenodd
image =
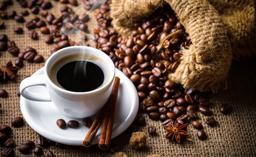
<svg viewBox="0 0 256 157"><path fill-rule="evenodd" d="M43 68L33 75L39 74L43 74ZM117 137L132 124L139 108L139 98L134 84L119 69L116 69L116 76L120 78L120 87L111 138ZM44 86L29 87L27 90L37 93L47 92ZM61 114L52 102L36 102L22 96L20 96L20 109L27 124L43 137L61 144L83 145L83 139L89 130L83 126L83 119L75 119ZM77 120L79 128L59 128L56 120L60 118L64 119L66 123L69 120ZM96 115L91 118L95 119ZM101 128L92 144L98 144L100 133Z"/></svg>

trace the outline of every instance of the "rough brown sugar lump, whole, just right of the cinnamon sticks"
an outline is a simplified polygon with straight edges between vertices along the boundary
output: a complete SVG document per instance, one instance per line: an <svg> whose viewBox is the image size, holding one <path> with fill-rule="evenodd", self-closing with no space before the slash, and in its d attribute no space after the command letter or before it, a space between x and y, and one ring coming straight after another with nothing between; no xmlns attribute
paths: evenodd
<svg viewBox="0 0 256 157"><path fill-rule="evenodd" d="M144 132L134 132L132 133L132 137L130 138L130 146L137 150L139 148L145 148L147 145L147 137Z"/></svg>

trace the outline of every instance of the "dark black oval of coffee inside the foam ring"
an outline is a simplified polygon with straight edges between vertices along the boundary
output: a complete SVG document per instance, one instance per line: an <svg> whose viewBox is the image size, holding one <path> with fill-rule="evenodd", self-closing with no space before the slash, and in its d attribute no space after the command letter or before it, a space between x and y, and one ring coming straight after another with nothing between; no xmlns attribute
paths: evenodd
<svg viewBox="0 0 256 157"><path fill-rule="evenodd" d="M89 61L72 61L63 65L56 75L58 83L68 91L92 91L104 81L103 70Z"/></svg>

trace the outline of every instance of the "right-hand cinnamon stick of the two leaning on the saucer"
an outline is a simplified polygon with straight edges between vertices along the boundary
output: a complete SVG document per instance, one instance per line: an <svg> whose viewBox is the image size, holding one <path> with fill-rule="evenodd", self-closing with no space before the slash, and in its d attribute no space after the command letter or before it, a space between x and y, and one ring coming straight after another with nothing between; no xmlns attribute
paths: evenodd
<svg viewBox="0 0 256 157"><path fill-rule="evenodd" d="M106 112L104 115L103 126L101 129L101 135L100 135L99 144L98 144L99 148L101 148L102 150L108 150L110 146L110 139L111 139L113 124L115 119L115 110L116 110L116 104L117 104L119 85L120 85L120 78L115 77L114 86L113 86L110 98L106 103Z"/></svg>

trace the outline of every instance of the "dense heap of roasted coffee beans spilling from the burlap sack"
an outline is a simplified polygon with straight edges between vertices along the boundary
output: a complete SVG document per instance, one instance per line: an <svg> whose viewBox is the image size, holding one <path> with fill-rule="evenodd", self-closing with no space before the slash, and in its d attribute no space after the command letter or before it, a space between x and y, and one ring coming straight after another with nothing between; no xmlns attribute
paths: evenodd
<svg viewBox="0 0 256 157"><path fill-rule="evenodd" d="M178 120L180 124L196 121L194 128L202 132L198 112L207 117L205 124L216 125L216 119L210 110L211 102L207 93L185 89L168 79L168 74L175 72L180 64L181 49L187 49L191 39L171 7L159 7L152 15L134 24L132 37L122 37L112 28L108 3L94 11L98 29L94 29L94 48L110 56L115 66L121 70L137 88L140 109L148 113L153 120L160 120L163 125L171 125ZM183 32L183 35L159 43L171 33ZM158 51L159 49L159 51ZM225 108L225 109L224 109ZM222 105L225 113L228 107ZM141 122L137 118L137 123ZM154 127L148 133L155 132ZM205 134L205 132L204 132ZM206 136L200 134L199 139Z"/></svg>

